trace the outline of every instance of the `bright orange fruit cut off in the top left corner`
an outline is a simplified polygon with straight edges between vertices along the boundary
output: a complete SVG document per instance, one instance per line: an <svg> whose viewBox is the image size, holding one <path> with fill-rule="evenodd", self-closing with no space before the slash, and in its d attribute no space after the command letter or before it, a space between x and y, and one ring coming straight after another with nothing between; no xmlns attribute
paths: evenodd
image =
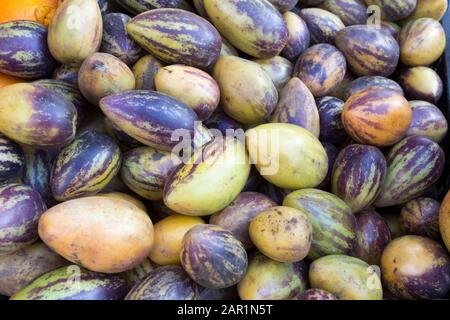
<svg viewBox="0 0 450 320"><path fill-rule="evenodd" d="M12 20L33 20L48 26L58 0L2 0L0 23Z"/></svg>

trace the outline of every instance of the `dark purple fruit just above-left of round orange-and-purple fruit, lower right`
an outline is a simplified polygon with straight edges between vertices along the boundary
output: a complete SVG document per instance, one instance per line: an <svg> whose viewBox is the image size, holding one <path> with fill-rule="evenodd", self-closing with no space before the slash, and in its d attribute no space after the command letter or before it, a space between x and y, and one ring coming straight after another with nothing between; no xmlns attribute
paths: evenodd
<svg viewBox="0 0 450 320"><path fill-rule="evenodd" d="M353 256L370 265L380 265L384 248L391 242L391 230L375 211L367 210L356 215L357 229Z"/></svg>

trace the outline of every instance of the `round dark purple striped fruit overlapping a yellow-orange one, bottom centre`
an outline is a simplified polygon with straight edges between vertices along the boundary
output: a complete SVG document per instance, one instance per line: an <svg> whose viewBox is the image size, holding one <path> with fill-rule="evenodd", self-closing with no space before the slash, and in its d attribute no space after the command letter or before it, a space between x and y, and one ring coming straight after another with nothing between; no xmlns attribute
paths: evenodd
<svg viewBox="0 0 450 320"><path fill-rule="evenodd" d="M248 260L244 246L231 232L218 226L199 225L184 236L181 264L198 284L220 289L242 280Z"/></svg>

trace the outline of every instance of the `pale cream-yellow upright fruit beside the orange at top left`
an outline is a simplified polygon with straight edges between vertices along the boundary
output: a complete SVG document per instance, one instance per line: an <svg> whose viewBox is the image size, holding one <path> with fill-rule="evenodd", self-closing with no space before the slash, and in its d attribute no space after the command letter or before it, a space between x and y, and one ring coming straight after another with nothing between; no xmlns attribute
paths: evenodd
<svg viewBox="0 0 450 320"><path fill-rule="evenodd" d="M64 1L49 26L48 46L59 62L79 65L98 51L102 33L102 13L97 0Z"/></svg>

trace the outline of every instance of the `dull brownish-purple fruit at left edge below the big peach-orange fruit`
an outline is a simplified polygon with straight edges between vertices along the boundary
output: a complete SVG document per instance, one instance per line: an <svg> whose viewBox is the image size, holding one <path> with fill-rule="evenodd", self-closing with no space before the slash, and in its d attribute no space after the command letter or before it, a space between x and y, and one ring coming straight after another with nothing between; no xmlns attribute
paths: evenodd
<svg viewBox="0 0 450 320"><path fill-rule="evenodd" d="M37 277L68 264L41 241L0 256L0 294L10 297Z"/></svg>

